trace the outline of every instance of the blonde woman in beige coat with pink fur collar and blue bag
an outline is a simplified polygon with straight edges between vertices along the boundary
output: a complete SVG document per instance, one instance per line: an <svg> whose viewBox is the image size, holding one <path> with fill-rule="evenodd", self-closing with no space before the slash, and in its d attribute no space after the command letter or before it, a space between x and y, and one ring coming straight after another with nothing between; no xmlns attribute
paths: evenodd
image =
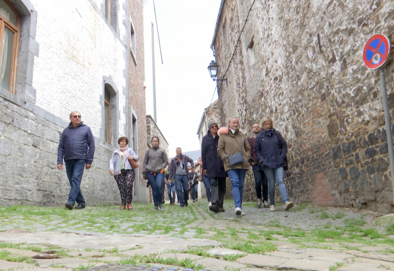
<svg viewBox="0 0 394 271"><path fill-rule="evenodd" d="M225 170L231 181L235 214L245 215L242 211L242 194L246 170L249 169L248 161L250 159L251 149L246 136L238 130L238 124L239 119L232 117L229 119L228 128L219 129L218 154L223 160ZM236 154L238 154L238 159L232 161L231 158L234 157L232 155Z"/></svg>

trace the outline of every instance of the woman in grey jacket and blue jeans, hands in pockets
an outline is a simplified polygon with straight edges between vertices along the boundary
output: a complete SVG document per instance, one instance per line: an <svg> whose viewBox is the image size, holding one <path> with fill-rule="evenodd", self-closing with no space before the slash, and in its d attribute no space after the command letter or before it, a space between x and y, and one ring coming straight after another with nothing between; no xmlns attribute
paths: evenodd
<svg viewBox="0 0 394 271"><path fill-rule="evenodd" d="M159 137L152 136L152 148L146 150L144 157L144 172L143 174L148 179L148 183L152 187L153 203L155 204L154 211L160 209L164 210L163 200L163 183L164 183L164 169L168 164L167 153L164 149L159 148Z"/></svg>

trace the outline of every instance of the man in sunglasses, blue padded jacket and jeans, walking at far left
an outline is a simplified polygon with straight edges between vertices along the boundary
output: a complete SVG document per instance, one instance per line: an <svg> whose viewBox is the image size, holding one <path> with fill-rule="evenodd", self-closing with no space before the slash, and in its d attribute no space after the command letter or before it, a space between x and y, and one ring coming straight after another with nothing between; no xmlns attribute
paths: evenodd
<svg viewBox="0 0 394 271"><path fill-rule="evenodd" d="M81 122L78 111L70 113L70 124L63 131L58 147L58 169L63 170L63 158L70 182L70 193L66 208L72 210L85 208L85 199L81 192L81 180L84 168L90 169L95 154L95 139L90 128Z"/></svg>

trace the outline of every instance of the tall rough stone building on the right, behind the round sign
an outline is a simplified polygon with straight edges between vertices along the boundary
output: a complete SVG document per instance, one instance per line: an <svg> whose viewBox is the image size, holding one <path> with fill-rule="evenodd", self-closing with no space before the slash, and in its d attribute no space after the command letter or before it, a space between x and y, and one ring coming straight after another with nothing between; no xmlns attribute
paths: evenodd
<svg viewBox="0 0 394 271"><path fill-rule="evenodd" d="M393 1L221 2L211 44L228 82L221 124L237 115L251 135L253 122L273 118L288 142L285 181L296 202L394 210L379 73L362 62L375 33L393 40ZM392 120L393 70L390 60Z"/></svg>

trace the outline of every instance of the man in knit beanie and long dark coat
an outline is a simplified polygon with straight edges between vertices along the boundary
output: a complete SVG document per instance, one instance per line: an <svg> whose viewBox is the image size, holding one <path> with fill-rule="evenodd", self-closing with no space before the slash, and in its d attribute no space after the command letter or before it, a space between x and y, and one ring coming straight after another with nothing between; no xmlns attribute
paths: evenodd
<svg viewBox="0 0 394 271"><path fill-rule="evenodd" d="M215 121L208 122L209 131L202 138L201 160L202 172L208 175L211 183L211 202L209 209L215 213L224 212L223 201L226 194L227 173L223 161L218 155L218 124Z"/></svg>

